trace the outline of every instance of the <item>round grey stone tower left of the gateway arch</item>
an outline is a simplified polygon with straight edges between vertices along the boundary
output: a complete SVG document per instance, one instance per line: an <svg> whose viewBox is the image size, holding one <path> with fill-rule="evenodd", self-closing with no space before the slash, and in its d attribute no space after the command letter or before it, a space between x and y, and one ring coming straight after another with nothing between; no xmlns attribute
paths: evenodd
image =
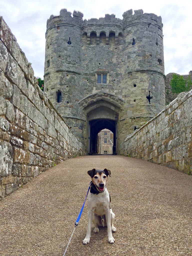
<svg viewBox="0 0 192 256"><path fill-rule="evenodd" d="M44 74L45 92L77 136L82 133L82 129L79 133L82 111L77 105L83 93L80 83L82 17L81 12L74 11L71 17L71 12L62 9L59 16L48 19Z"/></svg>

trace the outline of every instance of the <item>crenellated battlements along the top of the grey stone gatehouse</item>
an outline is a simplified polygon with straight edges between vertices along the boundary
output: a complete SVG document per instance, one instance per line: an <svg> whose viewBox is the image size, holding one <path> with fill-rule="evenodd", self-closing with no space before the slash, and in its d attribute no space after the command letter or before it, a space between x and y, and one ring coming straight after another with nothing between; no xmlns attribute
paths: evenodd
<svg viewBox="0 0 192 256"><path fill-rule="evenodd" d="M47 20L47 31L54 27L72 25L82 29L82 32L91 33L93 30L97 30L97 27L103 27L106 31L115 31L120 33L122 30L130 26L140 26L139 24L146 24L148 26L156 26L162 30L163 24L161 16L157 16L153 13L143 13L143 10L127 10L123 13L123 19L115 18L114 14L105 14L105 17L85 19L83 21L83 13L73 11L73 14L67 9L61 9L59 16L51 15ZM95 27L95 29L94 29ZM106 29L108 27L109 29ZM112 29L116 27L118 29ZM99 30L98 30L99 31Z"/></svg>

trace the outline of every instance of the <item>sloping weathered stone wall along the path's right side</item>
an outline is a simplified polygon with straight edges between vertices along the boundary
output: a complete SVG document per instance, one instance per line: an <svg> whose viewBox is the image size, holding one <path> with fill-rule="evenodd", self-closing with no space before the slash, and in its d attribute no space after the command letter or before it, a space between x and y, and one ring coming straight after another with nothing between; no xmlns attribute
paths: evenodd
<svg viewBox="0 0 192 256"><path fill-rule="evenodd" d="M192 174L192 90L130 134L120 153Z"/></svg>

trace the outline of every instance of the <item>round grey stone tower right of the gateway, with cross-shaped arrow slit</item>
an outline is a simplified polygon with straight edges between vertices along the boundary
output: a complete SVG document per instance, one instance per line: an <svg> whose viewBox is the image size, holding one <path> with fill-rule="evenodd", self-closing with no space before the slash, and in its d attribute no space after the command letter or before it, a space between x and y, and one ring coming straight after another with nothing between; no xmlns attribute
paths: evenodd
<svg viewBox="0 0 192 256"><path fill-rule="evenodd" d="M124 83L129 87L130 104L134 107L139 101L137 111L133 110L138 116L151 118L165 107L162 27L161 17L155 14L143 14L143 10L123 14Z"/></svg>

